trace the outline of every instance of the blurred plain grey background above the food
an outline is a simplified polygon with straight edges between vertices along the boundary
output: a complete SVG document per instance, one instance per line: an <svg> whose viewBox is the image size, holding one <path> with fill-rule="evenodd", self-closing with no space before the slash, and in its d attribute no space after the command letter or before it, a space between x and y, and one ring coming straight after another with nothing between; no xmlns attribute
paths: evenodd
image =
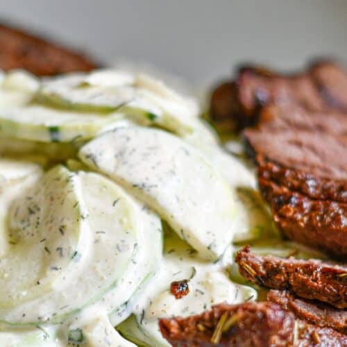
<svg viewBox="0 0 347 347"><path fill-rule="evenodd" d="M297 69L347 58L344 0L0 0L2 19L84 49L103 62L150 62L194 84L235 64Z"/></svg>

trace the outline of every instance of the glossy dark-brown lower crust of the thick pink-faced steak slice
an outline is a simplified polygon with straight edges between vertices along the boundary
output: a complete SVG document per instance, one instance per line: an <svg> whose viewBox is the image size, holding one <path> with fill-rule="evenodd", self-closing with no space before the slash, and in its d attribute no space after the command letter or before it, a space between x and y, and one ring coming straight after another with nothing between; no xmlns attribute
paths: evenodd
<svg viewBox="0 0 347 347"><path fill-rule="evenodd" d="M283 235L347 260L347 203L313 200L264 178L258 182Z"/></svg>

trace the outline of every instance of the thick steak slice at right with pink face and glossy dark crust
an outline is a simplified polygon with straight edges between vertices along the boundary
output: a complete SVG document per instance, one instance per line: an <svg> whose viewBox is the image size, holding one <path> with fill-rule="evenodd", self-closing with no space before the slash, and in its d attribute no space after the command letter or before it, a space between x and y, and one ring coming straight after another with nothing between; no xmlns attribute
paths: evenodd
<svg viewBox="0 0 347 347"><path fill-rule="evenodd" d="M285 117L244 131L259 165L260 191L286 237L346 259L347 116L330 115L330 125L307 116L305 128L293 110L292 119L285 111ZM319 122L321 129L314 128Z"/></svg>

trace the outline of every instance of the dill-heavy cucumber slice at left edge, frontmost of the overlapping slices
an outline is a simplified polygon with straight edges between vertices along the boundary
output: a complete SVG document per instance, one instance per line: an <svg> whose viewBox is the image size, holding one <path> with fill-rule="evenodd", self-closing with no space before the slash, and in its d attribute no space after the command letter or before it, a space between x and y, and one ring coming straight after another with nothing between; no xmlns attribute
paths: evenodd
<svg viewBox="0 0 347 347"><path fill-rule="evenodd" d="M0 263L0 310L42 296L81 251L78 183L64 167L46 173L8 212L10 247Z"/></svg>

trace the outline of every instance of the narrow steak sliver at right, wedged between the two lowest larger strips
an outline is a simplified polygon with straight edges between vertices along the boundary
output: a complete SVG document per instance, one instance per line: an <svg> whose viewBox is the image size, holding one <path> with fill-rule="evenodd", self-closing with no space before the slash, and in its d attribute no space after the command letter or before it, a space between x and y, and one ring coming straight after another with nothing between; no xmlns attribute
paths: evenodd
<svg viewBox="0 0 347 347"><path fill-rule="evenodd" d="M298 319L347 333L347 310L337 309L319 301L301 299L285 290L269 291L267 300L293 312Z"/></svg>

